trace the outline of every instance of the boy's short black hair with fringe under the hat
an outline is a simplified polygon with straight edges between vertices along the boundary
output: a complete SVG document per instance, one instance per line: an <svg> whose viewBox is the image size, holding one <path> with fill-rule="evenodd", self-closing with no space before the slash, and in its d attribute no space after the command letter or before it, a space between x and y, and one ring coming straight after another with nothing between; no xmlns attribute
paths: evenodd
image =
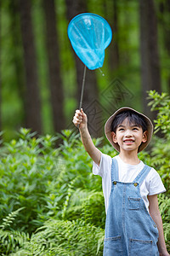
<svg viewBox="0 0 170 256"><path fill-rule="evenodd" d="M121 125L124 119L128 119L129 124L141 127L143 132L147 131L147 124L144 118L139 113L135 113L132 110L127 110L118 113L113 122L111 123L111 131L114 131L116 133L118 125Z"/></svg>

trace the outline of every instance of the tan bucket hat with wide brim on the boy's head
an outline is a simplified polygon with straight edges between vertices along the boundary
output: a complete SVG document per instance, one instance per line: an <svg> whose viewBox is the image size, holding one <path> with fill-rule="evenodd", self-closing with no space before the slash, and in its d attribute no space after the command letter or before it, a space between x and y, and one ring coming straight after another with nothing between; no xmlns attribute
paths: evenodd
<svg viewBox="0 0 170 256"><path fill-rule="evenodd" d="M138 113L144 119L144 121L146 123L146 126L147 126L147 131L148 131L147 141L145 143L141 143L141 145L139 146L138 152L140 152L140 151L144 150L144 148L146 148L148 146L148 144L150 143L150 140L151 140L151 137L152 137L152 134L153 134L153 129L154 129L154 126L153 126L151 120L146 115L144 115L144 113L139 113L138 111L134 110L133 108L128 108L128 107L119 108L118 110L116 110L115 113L113 113L111 115L111 117L109 119L107 119L107 121L105 123L105 136L107 137L108 141L111 143L113 148L115 148L116 151L120 152L119 145L117 143L114 143L113 140L112 140L111 124L112 124L113 120L115 119L115 117L118 113L122 113L122 112L127 111L127 110L133 111L134 113Z"/></svg>

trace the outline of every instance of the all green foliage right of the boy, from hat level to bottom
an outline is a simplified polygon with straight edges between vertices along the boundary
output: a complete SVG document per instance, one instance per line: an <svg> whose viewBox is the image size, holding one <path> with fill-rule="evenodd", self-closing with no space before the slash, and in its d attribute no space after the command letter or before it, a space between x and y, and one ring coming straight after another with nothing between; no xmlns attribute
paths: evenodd
<svg viewBox="0 0 170 256"><path fill-rule="evenodd" d="M150 163L159 172L167 189L167 196L159 195L159 207L167 248L170 251L170 97L167 93L160 95L156 90L150 90L149 98L151 110L157 111L155 133L161 131L163 135L154 138Z"/></svg>

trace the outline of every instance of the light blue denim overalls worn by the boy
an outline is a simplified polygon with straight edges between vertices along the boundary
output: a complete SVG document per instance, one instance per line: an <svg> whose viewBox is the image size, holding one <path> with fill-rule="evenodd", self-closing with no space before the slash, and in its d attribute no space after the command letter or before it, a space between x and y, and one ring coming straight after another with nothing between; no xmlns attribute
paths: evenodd
<svg viewBox="0 0 170 256"><path fill-rule="evenodd" d="M158 256L158 230L140 195L139 186L150 172L149 166L133 183L121 183L118 165L112 159L111 195L105 222L105 256Z"/></svg>

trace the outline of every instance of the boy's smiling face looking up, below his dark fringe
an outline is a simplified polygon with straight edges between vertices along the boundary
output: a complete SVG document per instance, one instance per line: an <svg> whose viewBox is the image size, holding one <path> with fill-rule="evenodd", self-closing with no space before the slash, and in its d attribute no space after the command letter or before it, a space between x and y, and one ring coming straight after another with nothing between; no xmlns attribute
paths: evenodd
<svg viewBox="0 0 170 256"><path fill-rule="evenodd" d="M116 133L112 131L111 134L113 142L120 146L120 152L131 150L138 153L140 144L147 141L147 131L143 132L142 127L130 124L128 119L124 119L116 128Z"/></svg>

